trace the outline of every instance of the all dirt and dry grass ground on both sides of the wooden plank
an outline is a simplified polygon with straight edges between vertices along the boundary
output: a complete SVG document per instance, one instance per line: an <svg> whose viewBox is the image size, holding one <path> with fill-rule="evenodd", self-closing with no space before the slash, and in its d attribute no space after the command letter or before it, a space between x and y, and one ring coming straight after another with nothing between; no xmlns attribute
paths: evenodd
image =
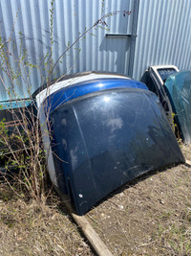
<svg viewBox="0 0 191 256"><path fill-rule="evenodd" d="M191 160L191 147L182 147ZM85 215L114 255L191 255L191 167L143 175ZM18 198L0 183L0 255L94 255L58 198Z"/></svg>

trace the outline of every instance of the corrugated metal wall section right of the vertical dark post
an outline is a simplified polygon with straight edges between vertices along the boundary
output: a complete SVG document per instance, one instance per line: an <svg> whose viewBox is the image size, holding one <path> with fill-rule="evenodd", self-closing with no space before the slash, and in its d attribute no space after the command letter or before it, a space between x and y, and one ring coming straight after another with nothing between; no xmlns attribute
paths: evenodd
<svg viewBox="0 0 191 256"><path fill-rule="evenodd" d="M133 77L149 65L191 70L191 1L139 0Z"/></svg>

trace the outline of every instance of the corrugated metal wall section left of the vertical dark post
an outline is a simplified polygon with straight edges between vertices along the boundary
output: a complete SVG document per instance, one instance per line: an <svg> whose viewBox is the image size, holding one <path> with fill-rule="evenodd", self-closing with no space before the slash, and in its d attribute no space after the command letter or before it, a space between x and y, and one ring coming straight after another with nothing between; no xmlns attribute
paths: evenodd
<svg viewBox="0 0 191 256"><path fill-rule="evenodd" d="M102 4L104 8L102 10ZM55 61L74 40L90 28L104 13L128 11L132 8L132 0L54 0L53 3L53 60ZM40 70L32 69L30 83L32 92L45 81L43 58L50 52L51 35L51 0L0 0L0 33L6 45L9 45L9 61L16 74L19 74L18 63L13 58L19 58L19 53L27 49L27 60L37 64ZM102 12L103 11L103 12ZM96 28L80 39L67 52L54 70L54 77L64 73L75 73L87 70L104 70L128 72L130 48L129 39L106 38L107 28L110 33L129 34L131 32L131 16L122 13L106 19L108 27ZM13 28L13 29L12 29ZM11 37L11 43L9 38ZM26 67L22 67L22 73ZM27 69L27 68L26 68ZM0 101L9 100L5 90L11 87L10 78L1 73L4 84L0 86ZM19 81L19 82L18 82ZM18 97L29 96L29 86L26 76L13 82Z"/></svg>

